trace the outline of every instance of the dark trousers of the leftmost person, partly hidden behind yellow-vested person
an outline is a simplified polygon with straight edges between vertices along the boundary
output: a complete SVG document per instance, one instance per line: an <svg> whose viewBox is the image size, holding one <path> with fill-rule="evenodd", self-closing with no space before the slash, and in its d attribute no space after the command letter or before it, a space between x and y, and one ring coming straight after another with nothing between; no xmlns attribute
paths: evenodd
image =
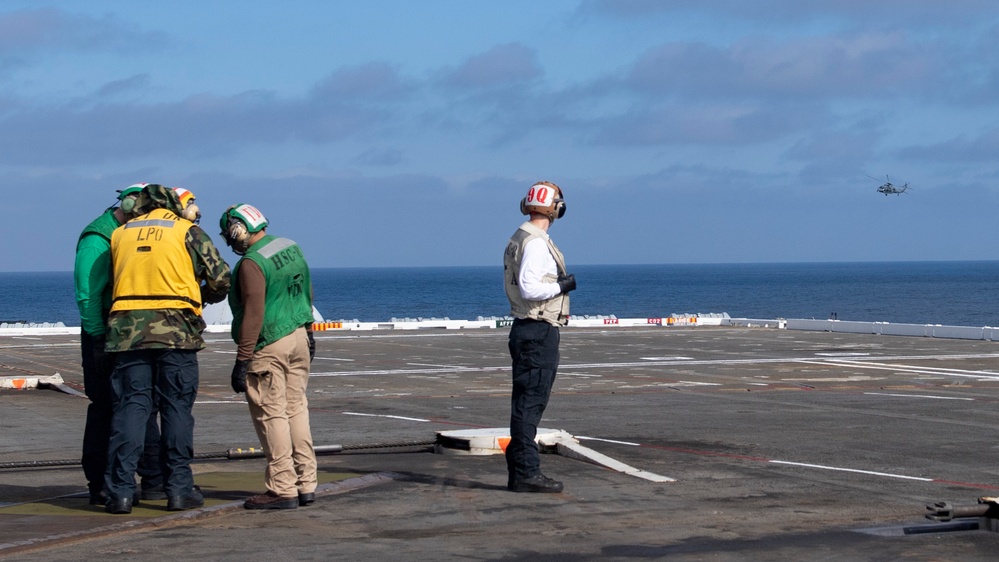
<svg viewBox="0 0 999 562"><path fill-rule="evenodd" d="M100 493L104 488L104 477L108 467L108 440L111 438L111 417L114 415L114 397L111 392L111 372L114 370L114 354L101 358L94 357L94 338L80 332L80 347L83 356L83 390L90 399L87 406L87 422L83 428L83 474L91 494ZM145 445L136 472L142 478L142 487L153 488L163 484L163 471L160 468L160 426L154 411L146 422Z"/></svg>

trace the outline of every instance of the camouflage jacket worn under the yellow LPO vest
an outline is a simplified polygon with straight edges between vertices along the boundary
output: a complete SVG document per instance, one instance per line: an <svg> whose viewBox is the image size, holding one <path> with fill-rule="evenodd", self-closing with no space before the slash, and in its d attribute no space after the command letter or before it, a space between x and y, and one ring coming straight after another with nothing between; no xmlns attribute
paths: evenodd
<svg viewBox="0 0 999 562"><path fill-rule="evenodd" d="M192 226L185 239L194 264L194 276L202 281L201 302L221 302L229 293L229 265L200 227ZM136 349L204 349L201 333L205 321L185 309L128 310L111 313L108 319L107 351Z"/></svg>

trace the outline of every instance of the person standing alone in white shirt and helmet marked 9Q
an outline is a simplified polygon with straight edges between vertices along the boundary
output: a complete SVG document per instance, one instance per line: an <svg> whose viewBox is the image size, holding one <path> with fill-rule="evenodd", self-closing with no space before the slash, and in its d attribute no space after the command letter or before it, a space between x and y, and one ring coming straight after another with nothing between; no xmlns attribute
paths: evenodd
<svg viewBox="0 0 999 562"><path fill-rule="evenodd" d="M507 488L557 493L562 483L541 473L534 440L558 370L559 327L569 322L569 291L576 288L562 252L548 237L549 227L565 214L562 189L546 181L532 185L520 202L520 212L530 219L514 232L503 255L504 286L514 317L509 341L513 392Z"/></svg>

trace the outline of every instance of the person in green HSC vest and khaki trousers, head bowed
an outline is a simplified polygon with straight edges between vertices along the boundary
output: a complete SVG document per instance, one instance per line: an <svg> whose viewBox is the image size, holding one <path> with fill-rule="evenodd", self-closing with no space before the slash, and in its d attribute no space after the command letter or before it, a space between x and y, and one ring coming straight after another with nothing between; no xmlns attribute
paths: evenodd
<svg viewBox="0 0 999 562"><path fill-rule="evenodd" d="M243 256L229 291L232 339L238 347L232 389L246 392L253 427L267 453L267 491L246 509L294 509L315 500L316 454L305 390L316 352L312 337L312 279L302 249L267 234L267 219L252 205L229 207L222 237Z"/></svg>

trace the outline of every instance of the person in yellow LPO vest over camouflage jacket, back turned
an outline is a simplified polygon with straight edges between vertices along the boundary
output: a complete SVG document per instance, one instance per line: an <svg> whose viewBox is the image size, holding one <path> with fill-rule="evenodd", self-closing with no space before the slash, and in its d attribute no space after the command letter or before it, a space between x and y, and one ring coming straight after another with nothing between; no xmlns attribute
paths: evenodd
<svg viewBox="0 0 999 562"><path fill-rule="evenodd" d="M154 400L167 509L204 505L190 467L197 352L205 347L201 307L220 302L229 290L229 266L208 235L183 218L173 189L149 184L136 204L139 216L111 235L114 289L106 349L117 354L105 479L110 513L132 510L136 464Z"/></svg>

